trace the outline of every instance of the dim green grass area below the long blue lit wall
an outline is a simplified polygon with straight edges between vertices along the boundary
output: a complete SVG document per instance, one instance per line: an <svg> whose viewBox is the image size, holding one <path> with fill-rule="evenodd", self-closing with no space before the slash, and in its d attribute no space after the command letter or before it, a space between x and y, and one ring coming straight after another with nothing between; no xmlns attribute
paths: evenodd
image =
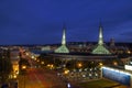
<svg viewBox="0 0 132 88"><path fill-rule="evenodd" d="M78 85L81 86L82 88L110 88L110 87L112 88L114 86L118 86L119 84L108 79L100 79L100 80L80 82Z"/></svg>

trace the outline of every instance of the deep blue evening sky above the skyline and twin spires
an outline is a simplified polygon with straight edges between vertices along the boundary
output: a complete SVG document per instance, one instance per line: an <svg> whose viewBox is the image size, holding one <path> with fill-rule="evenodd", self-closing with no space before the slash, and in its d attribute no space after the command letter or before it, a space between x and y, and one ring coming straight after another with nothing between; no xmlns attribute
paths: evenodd
<svg viewBox="0 0 132 88"><path fill-rule="evenodd" d="M99 21L105 42L132 43L132 0L0 0L0 44L98 41Z"/></svg>

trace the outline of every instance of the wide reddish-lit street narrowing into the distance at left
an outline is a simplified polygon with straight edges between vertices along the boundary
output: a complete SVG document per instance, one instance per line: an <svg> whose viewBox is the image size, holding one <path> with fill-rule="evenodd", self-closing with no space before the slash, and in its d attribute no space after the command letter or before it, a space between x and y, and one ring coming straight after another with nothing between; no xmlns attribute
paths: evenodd
<svg viewBox="0 0 132 88"><path fill-rule="evenodd" d="M19 75L19 88L78 88L75 84L67 81L65 76L58 76L57 72L41 67L32 55L22 53L22 56L30 63L24 75Z"/></svg>

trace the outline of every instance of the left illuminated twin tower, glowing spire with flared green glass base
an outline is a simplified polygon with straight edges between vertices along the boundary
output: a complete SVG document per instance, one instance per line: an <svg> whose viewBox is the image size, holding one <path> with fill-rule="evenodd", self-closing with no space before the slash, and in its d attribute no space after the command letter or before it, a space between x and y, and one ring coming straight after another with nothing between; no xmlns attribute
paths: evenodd
<svg viewBox="0 0 132 88"><path fill-rule="evenodd" d="M62 38L62 45L55 50L55 53L69 53L69 50L66 47L66 30L63 29L63 38Z"/></svg>

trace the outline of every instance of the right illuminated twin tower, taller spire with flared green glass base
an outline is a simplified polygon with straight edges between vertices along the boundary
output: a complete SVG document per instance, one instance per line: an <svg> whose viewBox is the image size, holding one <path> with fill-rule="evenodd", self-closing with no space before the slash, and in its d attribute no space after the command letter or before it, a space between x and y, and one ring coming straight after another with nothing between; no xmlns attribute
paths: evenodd
<svg viewBox="0 0 132 88"><path fill-rule="evenodd" d="M102 34L102 26L99 25L99 40L98 45L96 48L91 52L92 54L111 54L103 45L103 34Z"/></svg>

